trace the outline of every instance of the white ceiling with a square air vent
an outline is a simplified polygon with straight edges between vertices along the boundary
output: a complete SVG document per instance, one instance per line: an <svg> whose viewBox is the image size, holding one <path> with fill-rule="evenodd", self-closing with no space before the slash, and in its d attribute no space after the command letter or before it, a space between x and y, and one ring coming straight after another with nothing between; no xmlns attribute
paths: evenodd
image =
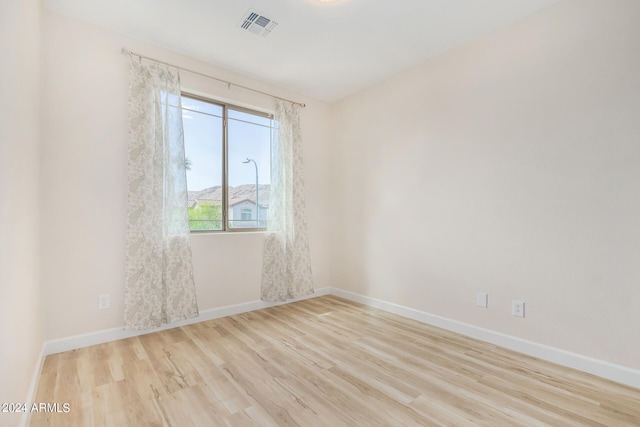
<svg viewBox="0 0 640 427"><path fill-rule="evenodd" d="M558 0L43 0L47 9L336 101ZM254 9L278 26L240 29ZM141 52L144 53L144 52Z"/></svg>

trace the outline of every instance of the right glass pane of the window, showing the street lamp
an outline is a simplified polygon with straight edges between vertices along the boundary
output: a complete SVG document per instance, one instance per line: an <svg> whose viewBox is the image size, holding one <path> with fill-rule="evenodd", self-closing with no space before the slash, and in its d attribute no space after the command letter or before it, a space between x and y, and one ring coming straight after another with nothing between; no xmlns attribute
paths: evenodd
<svg viewBox="0 0 640 427"><path fill-rule="evenodd" d="M272 120L228 110L229 228L264 228L269 209Z"/></svg>

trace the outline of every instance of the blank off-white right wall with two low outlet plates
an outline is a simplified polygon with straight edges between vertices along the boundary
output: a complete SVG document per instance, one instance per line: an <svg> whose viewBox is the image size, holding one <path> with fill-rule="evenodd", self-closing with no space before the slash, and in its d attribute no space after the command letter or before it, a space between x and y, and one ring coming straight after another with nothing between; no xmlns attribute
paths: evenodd
<svg viewBox="0 0 640 427"><path fill-rule="evenodd" d="M565 0L338 103L334 285L640 368L638 22Z"/></svg>

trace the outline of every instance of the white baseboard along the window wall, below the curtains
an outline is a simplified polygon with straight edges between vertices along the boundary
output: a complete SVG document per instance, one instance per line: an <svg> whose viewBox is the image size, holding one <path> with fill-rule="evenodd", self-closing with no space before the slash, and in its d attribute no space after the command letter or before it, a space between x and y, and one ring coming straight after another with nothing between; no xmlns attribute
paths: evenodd
<svg viewBox="0 0 640 427"><path fill-rule="evenodd" d="M102 331L89 332L81 335L74 335L71 337L60 338L57 340L46 341L44 343L44 355L62 353L63 351L75 350L78 348L89 347L91 345L102 344L110 341L117 341L125 338L136 337L140 335L150 334L153 332L164 331L166 329L177 328L180 326L191 325L194 323L204 322L211 319L218 319L220 317L233 316L234 314L247 313L249 311L260 310L262 308L274 307L277 305L288 304L290 302L302 301L309 298L328 295L331 293L331 288L316 289L313 294L306 295L301 298L289 300L285 302L265 302L265 301L249 301L236 305L228 305L225 307L212 308L209 310L203 310L198 317L193 319L181 320L168 325L163 325L156 329L150 329L145 331L131 331L126 330L124 327L104 329ZM39 372L39 371L38 371Z"/></svg>

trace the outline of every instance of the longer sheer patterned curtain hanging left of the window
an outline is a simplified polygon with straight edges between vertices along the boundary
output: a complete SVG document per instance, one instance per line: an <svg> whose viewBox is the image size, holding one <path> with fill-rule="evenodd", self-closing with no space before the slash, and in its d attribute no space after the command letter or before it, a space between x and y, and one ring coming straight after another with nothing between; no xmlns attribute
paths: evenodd
<svg viewBox="0 0 640 427"><path fill-rule="evenodd" d="M125 325L198 316L187 213L180 78L130 61Z"/></svg>

